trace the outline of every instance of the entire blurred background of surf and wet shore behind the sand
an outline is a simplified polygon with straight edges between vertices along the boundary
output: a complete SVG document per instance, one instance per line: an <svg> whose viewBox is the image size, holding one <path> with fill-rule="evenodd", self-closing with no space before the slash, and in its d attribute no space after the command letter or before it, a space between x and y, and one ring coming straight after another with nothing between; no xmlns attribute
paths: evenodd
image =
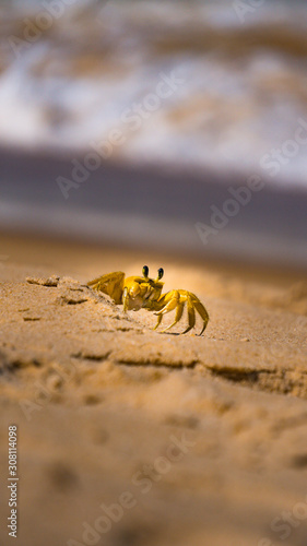
<svg viewBox="0 0 307 546"><path fill-rule="evenodd" d="M306 269L304 1L2 0L0 19L2 233Z"/></svg>

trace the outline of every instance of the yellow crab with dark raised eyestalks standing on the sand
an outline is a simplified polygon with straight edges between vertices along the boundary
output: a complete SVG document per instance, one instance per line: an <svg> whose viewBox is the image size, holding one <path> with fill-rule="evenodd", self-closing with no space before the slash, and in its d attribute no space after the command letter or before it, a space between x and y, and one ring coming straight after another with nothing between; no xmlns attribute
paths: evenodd
<svg viewBox="0 0 307 546"><path fill-rule="evenodd" d="M150 278L149 268L144 265L143 276L129 276L125 278L125 273L117 271L90 281L87 286L94 290L107 294L117 305L123 304L123 312L128 310L139 311L140 309L156 311L157 323L154 330L161 324L165 313L176 309L174 322L162 330L162 332L166 332L166 330L169 330L179 322L182 317L185 304L187 304L189 324L182 333L186 334L194 328L197 310L203 320L201 335L209 321L209 314L202 302L194 294L187 290L170 290L162 294L164 283L161 280L163 275L164 271L161 268L157 272L157 277L155 280Z"/></svg>

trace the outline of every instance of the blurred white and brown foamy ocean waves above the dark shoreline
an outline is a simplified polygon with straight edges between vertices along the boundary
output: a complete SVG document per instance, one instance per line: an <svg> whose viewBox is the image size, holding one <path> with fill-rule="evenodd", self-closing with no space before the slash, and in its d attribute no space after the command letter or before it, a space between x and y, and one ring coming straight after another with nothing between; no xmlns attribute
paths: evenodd
<svg viewBox="0 0 307 546"><path fill-rule="evenodd" d="M3 1L0 143L307 188L306 2Z"/></svg>

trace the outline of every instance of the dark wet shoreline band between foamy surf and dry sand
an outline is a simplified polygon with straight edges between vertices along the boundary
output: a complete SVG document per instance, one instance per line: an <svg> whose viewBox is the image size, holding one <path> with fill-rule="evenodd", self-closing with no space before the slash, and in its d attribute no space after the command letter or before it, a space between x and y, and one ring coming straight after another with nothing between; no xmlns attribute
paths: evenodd
<svg viewBox="0 0 307 546"><path fill-rule="evenodd" d="M224 178L174 166L106 162L64 199L57 178L71 180L68 156L0 150L0 158L2 232L307 269L307 192L263 181L264 187L246 205L237 203L236 215L229 212L225 221L229 188L246 187L235 174ZM197 225L206 227L197 230Z"/></svg>

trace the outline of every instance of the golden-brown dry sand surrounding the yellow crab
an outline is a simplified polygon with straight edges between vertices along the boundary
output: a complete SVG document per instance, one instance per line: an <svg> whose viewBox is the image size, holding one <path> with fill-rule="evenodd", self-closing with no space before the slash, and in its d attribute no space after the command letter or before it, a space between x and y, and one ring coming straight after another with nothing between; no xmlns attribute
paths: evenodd
<svg viewBox="0 0 307 546"><path fill-rule="evenodd" d="M302 275L0 242L1 545L306 546ZM202 299L203 336L175 335L186 318L153 332L151 313L125 317L84 286L146 262L164 266L166 289ZM26 282L50 275L54 286ZM12 424L17 539L7 531ZM111 522L102 505L115 503Z"/></svg>

